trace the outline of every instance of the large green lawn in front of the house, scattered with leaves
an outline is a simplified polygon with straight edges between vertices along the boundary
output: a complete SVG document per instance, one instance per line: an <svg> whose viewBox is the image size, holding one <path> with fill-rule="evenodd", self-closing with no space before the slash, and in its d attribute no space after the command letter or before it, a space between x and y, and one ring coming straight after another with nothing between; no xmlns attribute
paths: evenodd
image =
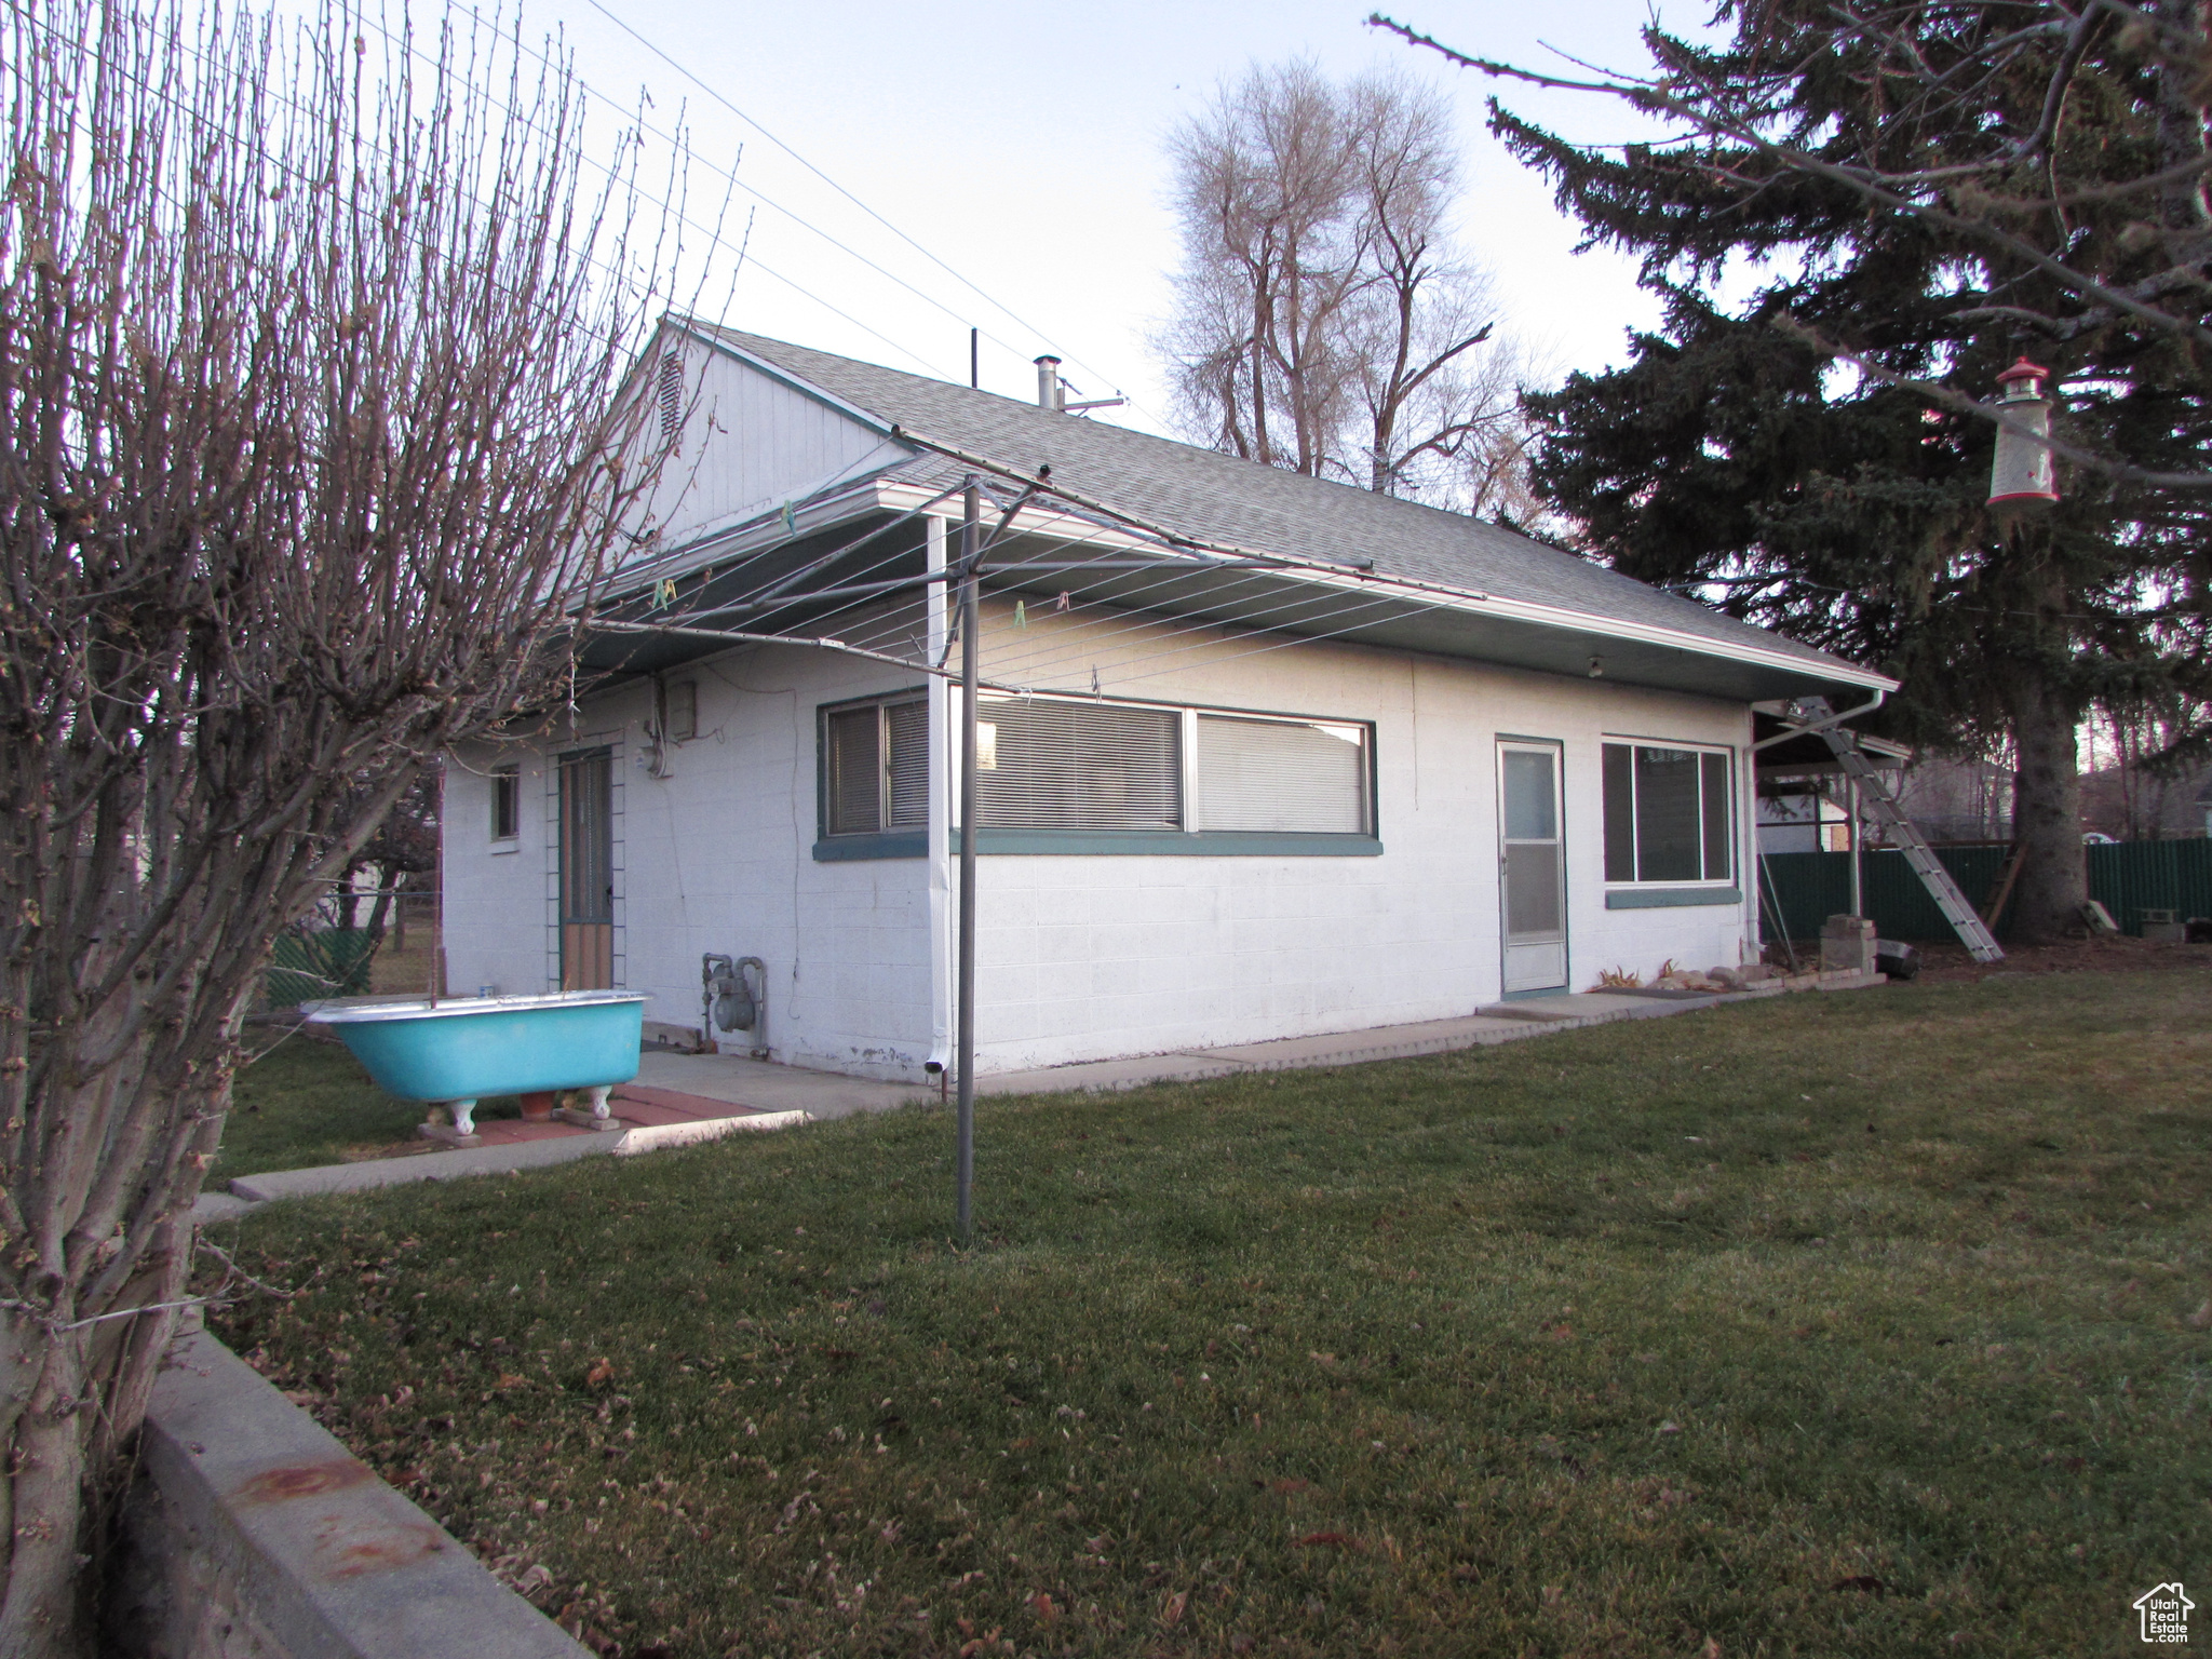
<svg viewBox="0 0 2212 1659"><path fill-rule="evenodd" d="M217 1325L626 1659L2135 1652L2212 1584L2208 1006L987 1102L967 1254L940 1110L290 1203Z"/></svg>

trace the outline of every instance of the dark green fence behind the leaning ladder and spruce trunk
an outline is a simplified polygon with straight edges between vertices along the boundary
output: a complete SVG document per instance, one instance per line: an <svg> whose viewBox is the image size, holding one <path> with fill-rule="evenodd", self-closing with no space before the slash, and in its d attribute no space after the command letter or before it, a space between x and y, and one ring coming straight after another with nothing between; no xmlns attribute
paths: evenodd
<svg viewBox="0 0 2212 1659"><path fill-rule="evenodd" d="M2117 841L2093 845L2088 854L2088 896L2104 905L2124 933L2141 936L2146 909L2170 909L2181 918L2212 916L2212 841ZM1978 911L1989 900L2004 869L2002 845L1936 847L1936 856L1966 902ZM1820 936L1820 922L1851 907L1851 854L1847 852L1776 852L1767 854L1765 889L1761 891L1761 929L1776 938L1774 916L1781 911L1787 938ZM1865 914L1882 938L1942 940L1958 938L1951 922L1936 909L1936 898L1905 863L1902 852L1865 854L1860 894ZM1997 938L2011 920L2011 905L1997 918Z"/></svg>

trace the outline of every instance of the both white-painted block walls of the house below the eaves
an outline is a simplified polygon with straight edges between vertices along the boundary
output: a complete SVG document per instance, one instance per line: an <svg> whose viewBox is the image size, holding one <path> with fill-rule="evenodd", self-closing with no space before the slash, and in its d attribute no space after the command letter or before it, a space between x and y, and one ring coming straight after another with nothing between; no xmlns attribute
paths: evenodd
<svg viewBox="0 0 2212 1659"><path fill-rule="evenodd" d="M818 706L905 690L914 677L801 648L737 653L670 677L697 681L701 737L670 750L668 779L639 761L646 686L586 703L573 739L507 752L522 763L515 852L489 843L482 772L493 757L471 752L449 768L451 987L557 987L553 757L611 743L615 980L653 995L646 1018L697 1026L701 951L761 956L776 1060L918 1082L933 998L942 1020L951 995L949 960L936 973L942 984L931 980L929 863L812 856ZM1650 980L1668 958L1703 969L1747 951L1741 703L1343 644L1239 653L1141 686L1108 681L1106 695L1117 692L1371 721L1385 852L987 854L980 1071L1442 1020L1495 1002L1500 737L1562 743L1571 989L1588 989L1601 969ZM1736 750L1743 900L1606 909L1606 739ZM942 787L949 772L940 768Z"/></svg>

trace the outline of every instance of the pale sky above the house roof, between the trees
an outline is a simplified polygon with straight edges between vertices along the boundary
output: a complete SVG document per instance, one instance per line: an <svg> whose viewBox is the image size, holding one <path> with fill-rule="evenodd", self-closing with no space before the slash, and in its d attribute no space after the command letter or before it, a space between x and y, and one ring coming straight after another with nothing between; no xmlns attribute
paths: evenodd
<svg viewBox="0 0 2212 1659"><path fill-rule="evenodd" d="M1031 358L1057 349L1084 396L1130 396L1130 409L1102 418L1161 429L1168 398L1148 338L1168 312L1177 263L1164 139L1221 77L1292 55L1332 75L1398 64L1447 88L1464 137L1462 241L1495 276L1500 332L1520 336L1542 380L1621 361L1626 330L1657 321L1630 263L1604 250L1575 254L1577 228L1489 137L1493 84L1367 29L1369 7L1358 0L604 7L526 0L524 33L557 29L595 91L630 104L644 88L657 124L675 126L681 113L697 157L692 219L710 221L728 190L717 170L734 170L728 246L714 248L701 228L686 234L690 254L706 254L714 270L701 310L743 330L964 380L973 323L984 330L987 389L1031 396ZM1648 9L1630 0L1429 0L1394 15L1517 62L1559 64L1548 44L1637 66ZM1694 27L1703 15L1683 11L1670 22ZM1648 133L1606 100L1511 88L1506 97L1577 139ZM593 122L604 135L615 115L599 106ZM763 128L929 252L838 195ZM655 159L648 150L648 173ZM739 265L748 210L750 250Z"/></svg>

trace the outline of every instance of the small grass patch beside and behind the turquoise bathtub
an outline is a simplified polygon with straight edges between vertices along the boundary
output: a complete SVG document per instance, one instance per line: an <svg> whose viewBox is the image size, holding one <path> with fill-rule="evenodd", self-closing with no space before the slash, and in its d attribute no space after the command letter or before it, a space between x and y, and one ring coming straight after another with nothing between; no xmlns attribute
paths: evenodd
<svg viewBox="0 0 2212 1659"><path fill-rule="evenodd" d="M513 1097L487 1099L476 1110L480 1121L520 1115ZM420 1121L422 1102L394 1099L345 1048L292 1033L239 1071L208 1186L261 1170L352 1164L394 1146L436 1150L416 1135Z"/></svg>

